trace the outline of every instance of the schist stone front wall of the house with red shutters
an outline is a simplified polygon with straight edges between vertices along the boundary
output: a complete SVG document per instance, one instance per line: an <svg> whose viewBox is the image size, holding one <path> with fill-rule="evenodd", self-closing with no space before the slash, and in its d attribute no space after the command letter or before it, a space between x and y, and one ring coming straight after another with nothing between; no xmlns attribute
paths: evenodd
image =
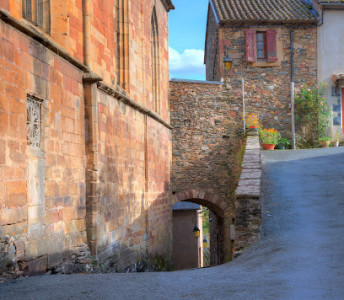
<svg viewBox="0 0 344 300"><path fill-rule="evenodd" d="M265 128L276 128L282 134L291 135L291 59L290 30L275 28L277 31L278 61L273 65L243 62L245 79L246 110L258 113ZM222 43L229 43L232 50L233 67L227 75L226 89L241 97L240 57L244 45L243 29L223 29ZM314 85L317 80L317 29L296 28L294 35L294 81ZM241 47L241 48L240 48Z"/></svg>

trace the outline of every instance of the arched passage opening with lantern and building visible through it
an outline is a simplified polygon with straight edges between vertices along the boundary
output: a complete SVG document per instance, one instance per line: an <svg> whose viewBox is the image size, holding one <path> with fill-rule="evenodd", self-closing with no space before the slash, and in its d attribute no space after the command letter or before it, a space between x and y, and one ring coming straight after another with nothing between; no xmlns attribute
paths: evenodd
<svg viewBox="0 0 344 300"><path fill-rule="evenodd" d="M195 226L200 229L199 238L194 237ZM224 263L224 257L224 219L218 207L201 199L177 202L173 206L174 269L216 266Z"/></svg>

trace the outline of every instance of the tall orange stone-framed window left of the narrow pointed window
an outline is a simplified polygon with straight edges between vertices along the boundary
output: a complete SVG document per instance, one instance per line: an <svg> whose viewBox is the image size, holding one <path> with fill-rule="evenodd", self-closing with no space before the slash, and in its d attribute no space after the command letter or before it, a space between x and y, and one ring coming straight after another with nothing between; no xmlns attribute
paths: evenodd
<svg viewBox="0 0 344 300"><path fill-rule="evenodd" d="M129 89L129 20L128 0L116 0L117 84Z"/></svg>

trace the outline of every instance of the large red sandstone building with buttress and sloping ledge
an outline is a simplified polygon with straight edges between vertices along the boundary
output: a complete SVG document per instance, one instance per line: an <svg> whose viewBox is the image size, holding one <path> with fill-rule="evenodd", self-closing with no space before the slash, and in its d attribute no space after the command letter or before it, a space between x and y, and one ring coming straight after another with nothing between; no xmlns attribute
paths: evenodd
<svg viewBox="0 0 344 300"><path fill-rule="evenodd" d="M171 261L173 8L0 1L0 274Z"/></svg>

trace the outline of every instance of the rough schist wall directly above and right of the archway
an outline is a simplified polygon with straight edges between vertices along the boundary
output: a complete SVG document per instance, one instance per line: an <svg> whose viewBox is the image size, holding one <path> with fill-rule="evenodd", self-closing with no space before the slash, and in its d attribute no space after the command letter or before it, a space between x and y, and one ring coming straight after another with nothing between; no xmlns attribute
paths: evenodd
<svg viewBox="0 0 344 300"><path fill-rule="evenodd" d="M241 105L219 82L172 80L170 107L175 200L207 206L213 217L213 264L232 258L230 228L240 174Z"/></svg>

